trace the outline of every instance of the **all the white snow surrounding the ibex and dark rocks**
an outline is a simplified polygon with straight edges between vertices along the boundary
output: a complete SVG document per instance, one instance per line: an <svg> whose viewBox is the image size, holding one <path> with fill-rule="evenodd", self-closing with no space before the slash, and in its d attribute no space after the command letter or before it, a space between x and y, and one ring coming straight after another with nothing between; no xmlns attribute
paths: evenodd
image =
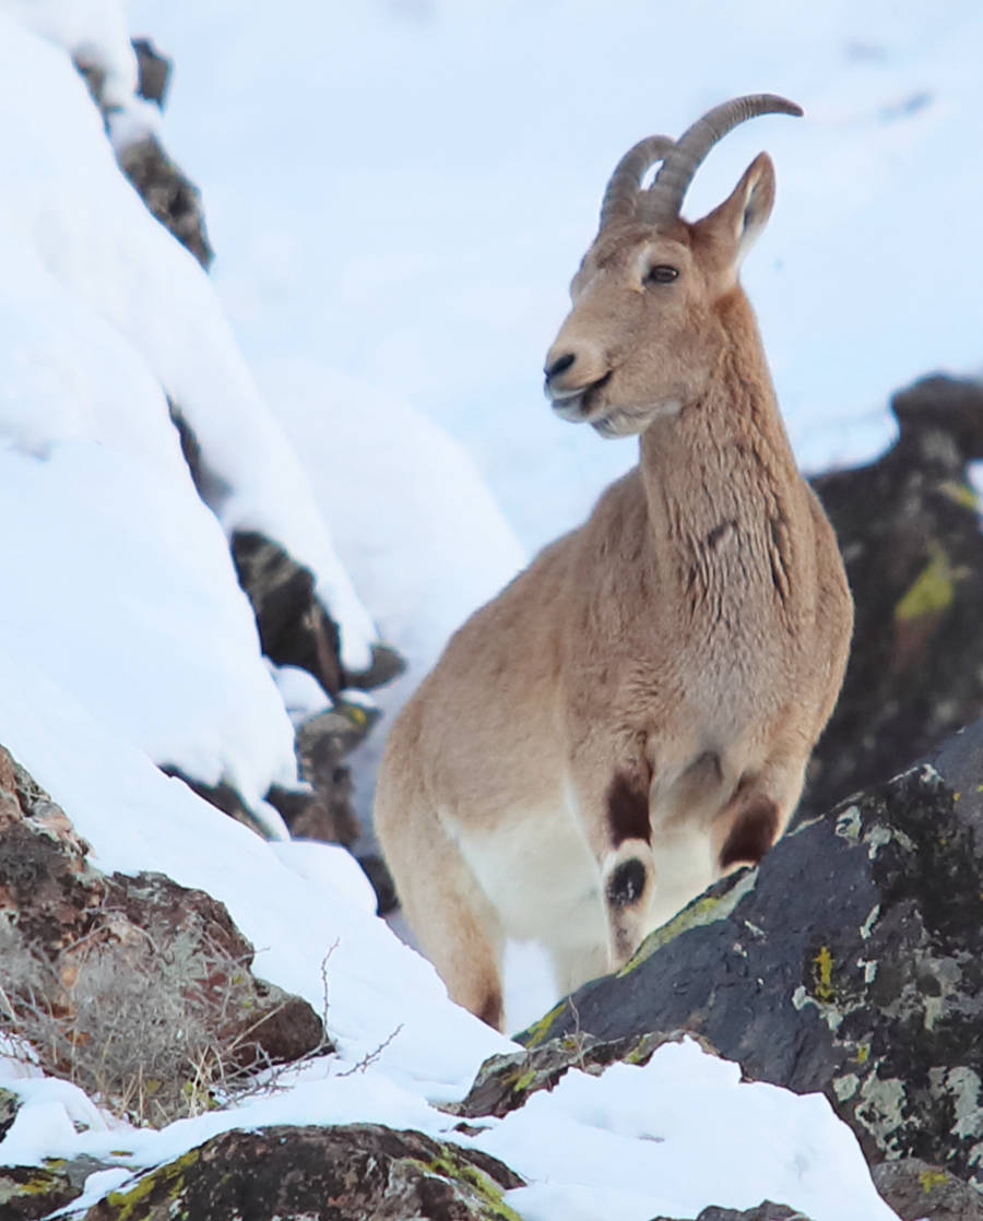
<svg viewBox="0 0 983 1221"><path fill-rule="evenodd" d="M128 29L177 56L162 123L132 96ZM694 1044L573 1071L477 1137L452 1132L435 1104L513 1044L451 1005L344 852L264 842L154 762L258 805L294 777L291 717L322 706L261 659L234 530L314 570L349 668L380 634L403 650L410 674L377 694L391 714L466 613L634 460L552 419L539 368L607 175L648 131L761 88L807 110L728 137L690 201L773 153L778 206L745 278L806 465L876 452L905 379L976 368L978 170L960 150L981 35L968 0L944 20L913 0L0 2L0 514L16 523L0 742L100 868L208 890L258 972L319 1010L326 963L338 1045L278 1093L159 1133L0 1059L24 1099L0 1161L139 1168L228 1127L364 1120L501 1156L529 1179L509 1194L529 1221L763 1197L814 1221L893 1216L825 1100L741 1083ZM112 140L160 127L203 187L214 283L120 175L72 55L107 72ZM167 397L216 475L209 507ZM87 1200L123 1173L94 1176Z"/></svg>

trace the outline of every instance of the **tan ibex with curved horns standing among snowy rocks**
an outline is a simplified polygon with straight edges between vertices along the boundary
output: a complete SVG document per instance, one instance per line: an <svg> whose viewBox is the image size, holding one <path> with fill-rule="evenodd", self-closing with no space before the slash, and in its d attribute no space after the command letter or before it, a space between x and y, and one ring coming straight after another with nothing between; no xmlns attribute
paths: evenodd
<svg viewBox="0 0 983 1221"><path fill-rule="evenodd" d="M618 164L546 393L637 433L639 465L460 628L388 740L375 817L403 908L452 999L499 1028L507 938L540 941L567 991L760 861L840 689L846 578L738 282L768 155L680 217L713 144L769 112L801 115L740 98Z"/></svg>

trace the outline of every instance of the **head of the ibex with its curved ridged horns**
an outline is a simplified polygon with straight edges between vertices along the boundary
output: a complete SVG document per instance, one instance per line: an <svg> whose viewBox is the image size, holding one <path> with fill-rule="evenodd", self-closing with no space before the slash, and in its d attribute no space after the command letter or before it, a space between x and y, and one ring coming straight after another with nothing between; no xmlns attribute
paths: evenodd
<svg viewBox="0 0 983 1221"><path fill-rule="evenodd" d="M775 112L802 114L773 94L738 98L678 142L651 136L618 162L597 237L570 284L573 309L546 357L546 393L564 420L626 436L701 397L723 342L718 306L738 289L741 259L772 211L771 158L757 156L701 221L691 225L679 210L717 140L746 118Z"/></svg>

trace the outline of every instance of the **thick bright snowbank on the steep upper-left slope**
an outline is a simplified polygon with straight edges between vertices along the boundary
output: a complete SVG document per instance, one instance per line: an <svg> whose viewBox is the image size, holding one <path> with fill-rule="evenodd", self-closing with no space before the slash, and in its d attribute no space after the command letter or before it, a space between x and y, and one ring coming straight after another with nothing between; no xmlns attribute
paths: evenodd
<svg viewBox="0 0 983 1221"><path fill-rule="evenodd" d="M315 571L353 668L376 631L210 282L120 172L72 66L84 48L123 96L122 22L87 40L53 6L22 12L62 37L0 9L0 567L17 591L0 635L158 762L256 805L296 781L293 735L225 534L264 530ZM167 397L226 490L221 525Z"/></svg>

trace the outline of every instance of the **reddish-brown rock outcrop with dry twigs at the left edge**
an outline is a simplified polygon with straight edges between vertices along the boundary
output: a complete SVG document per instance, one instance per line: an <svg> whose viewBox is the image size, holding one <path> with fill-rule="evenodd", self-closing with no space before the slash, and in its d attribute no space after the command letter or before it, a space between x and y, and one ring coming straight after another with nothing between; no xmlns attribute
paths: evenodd
<svg viewBox="0 0 983 1221"><path fill-rule="evenodd" d="M330 1050L307 1001L253 976L253 946L222 904L162 874L101 873L2 747L0 952L0 1026L123 1112L133 1082L153 1077L143 1118L173 1117L171 1094L180 1106L189 1088L206 1095L215 1081ZM78 1078L89 1048L94 1076Z"/></svg>

